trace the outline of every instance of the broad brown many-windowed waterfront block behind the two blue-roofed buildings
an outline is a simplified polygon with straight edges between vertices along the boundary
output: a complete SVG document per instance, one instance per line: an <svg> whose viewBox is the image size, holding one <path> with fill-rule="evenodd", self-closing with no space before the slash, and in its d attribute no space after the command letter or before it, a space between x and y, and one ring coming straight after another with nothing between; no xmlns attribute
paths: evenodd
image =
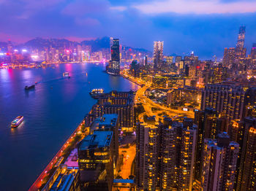
<svg viewBox="0 0 256 191"><path fill-rule="evenodd" d="M134 96L135 93L111 91L98 98L91 114L85 117L86 125L103 114L118 114L118 126L124 131L133 131L134 127Z"/></svg>

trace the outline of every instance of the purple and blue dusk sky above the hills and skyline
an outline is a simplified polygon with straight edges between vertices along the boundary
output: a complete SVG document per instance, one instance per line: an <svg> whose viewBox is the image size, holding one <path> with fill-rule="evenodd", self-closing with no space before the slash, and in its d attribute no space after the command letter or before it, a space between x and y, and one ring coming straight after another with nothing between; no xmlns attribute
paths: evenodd
<svg viewBox="0 0 256 191"><path fill-rule="evenodd" d="M113 36L147 50L164 41L165 55L221 58L241 25L247 49L256 42L255 0L0 0L0 17L0 41L19 43Z"/></svg>

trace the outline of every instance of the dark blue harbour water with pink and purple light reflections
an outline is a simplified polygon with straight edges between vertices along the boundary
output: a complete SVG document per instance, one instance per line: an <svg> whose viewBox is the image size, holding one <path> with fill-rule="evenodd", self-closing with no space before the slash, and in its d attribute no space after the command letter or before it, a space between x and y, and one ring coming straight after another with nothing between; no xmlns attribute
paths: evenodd
<svg viewBox="0 0 256 191"><path fill-rule="evenodd" d="M0 190L29 189L96 103L92 89L137 90L138 85L104 70L104 63L0 70ZM65 71L70 78L63 77ZM34 90L24 90L35 82ZM24 121L11 129L18 115Z"/></svg>

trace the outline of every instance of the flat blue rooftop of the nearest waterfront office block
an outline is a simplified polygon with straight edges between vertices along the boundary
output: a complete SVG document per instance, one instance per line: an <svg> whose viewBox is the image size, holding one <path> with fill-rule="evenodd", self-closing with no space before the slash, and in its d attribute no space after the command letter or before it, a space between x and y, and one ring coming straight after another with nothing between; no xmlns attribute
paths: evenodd
<svg viewBox="0 0 256 191"><path fill-rule="evenodd" d="M79 149L87 150L109 147L112 135L112 131L94 131L92 135L86 136L86 138L80 142Z"/></svg>

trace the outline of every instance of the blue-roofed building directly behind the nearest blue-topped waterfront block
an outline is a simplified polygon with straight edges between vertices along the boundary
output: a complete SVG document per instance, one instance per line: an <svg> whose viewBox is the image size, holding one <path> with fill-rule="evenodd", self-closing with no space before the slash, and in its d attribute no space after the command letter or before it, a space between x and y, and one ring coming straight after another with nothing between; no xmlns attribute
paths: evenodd
<svg viewBox="0 0 256 191"><path fill-rule="evenodd" d="M118 159L118 129L118 114L103 114L102 117L98 117L90 125L90 134L97 130L113 132L113 158L115 163Z"/></svg>

